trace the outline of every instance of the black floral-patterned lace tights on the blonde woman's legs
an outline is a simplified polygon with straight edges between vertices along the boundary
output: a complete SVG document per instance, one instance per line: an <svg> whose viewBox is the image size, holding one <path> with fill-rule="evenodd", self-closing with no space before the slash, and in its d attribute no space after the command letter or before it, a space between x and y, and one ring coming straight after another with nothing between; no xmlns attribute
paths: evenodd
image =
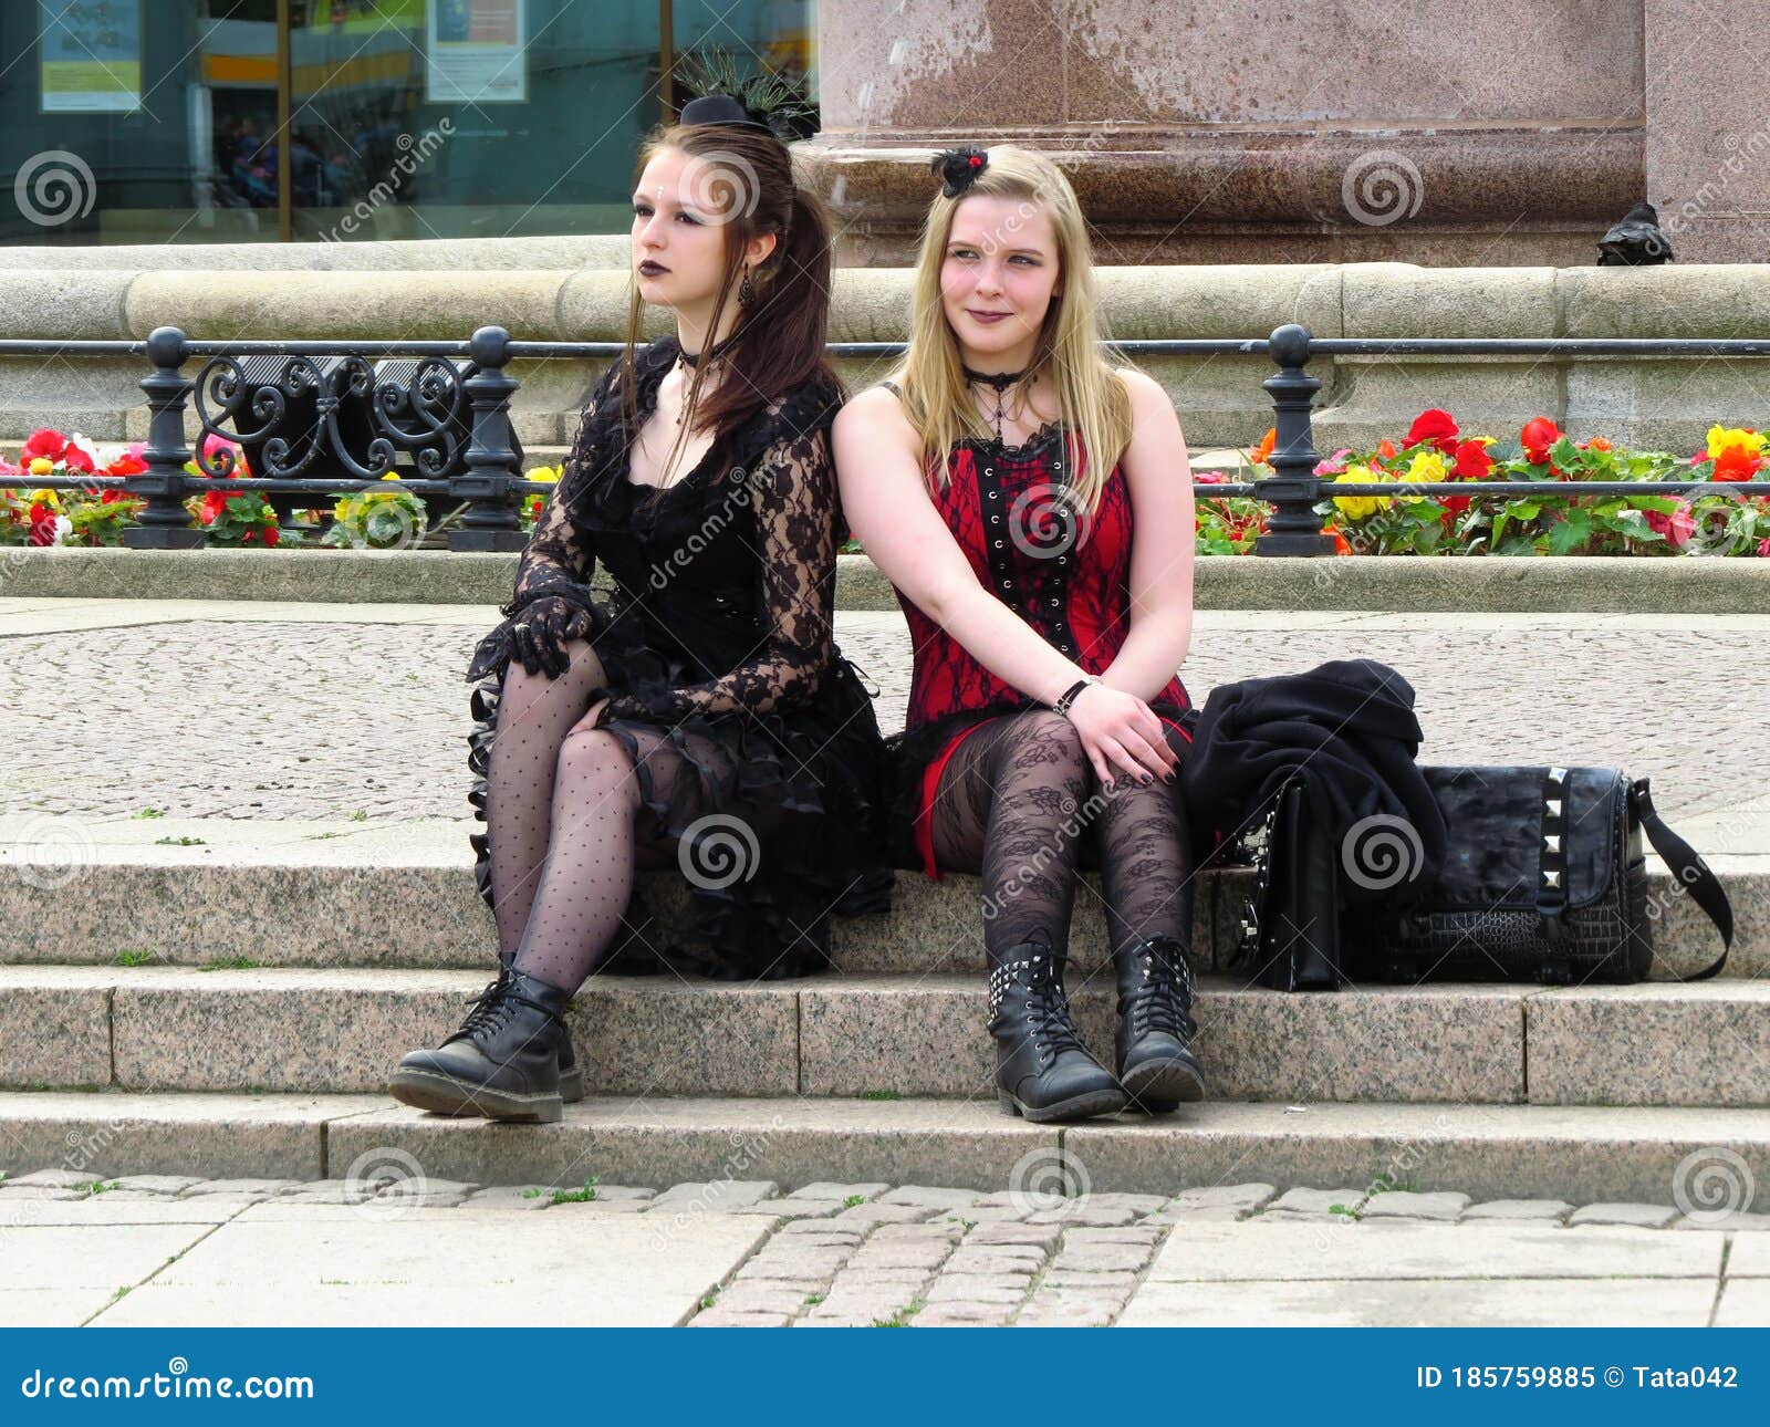
<svg viewBox="0 0 1770 1427"><path fill-rule="evenodd" d="M1186 756L1186 738L1163 724ZM1168 935L1191 951L1193 866L1186 804L1161 779L1099 786L1074 724L1048 708L977 728L935 790L935 860L982 873L991 963L1043 933L1069 944L1076 868L1101 873L1106 935Z"/></svg>

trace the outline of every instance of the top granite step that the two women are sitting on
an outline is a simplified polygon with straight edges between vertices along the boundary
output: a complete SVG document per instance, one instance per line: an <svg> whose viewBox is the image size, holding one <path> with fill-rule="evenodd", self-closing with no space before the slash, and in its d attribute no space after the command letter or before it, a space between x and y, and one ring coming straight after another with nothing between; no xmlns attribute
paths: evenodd
<svg viewBox="0 0 1770 1427"><path fill-rule="evenodd" d="M473 883L466 832L448 825L363 832L327 841L216 846L104 843L87 825L81 846L0 846L0 965L202 965L246 958L266 967L490 967L497 938ZM133 836L140 837L135 830ZM218 837L212 825L209 837ZM1735 942L1724 976L1770 976L1770 857L1712 855L1733 899ZM1648 859L1648 910L1657 976L1690 972L1719 954L1720 938L1658 859ZM87 875L101 873L101 875ZM78 876L78 896L67 889ZM644 873L644 896L669 915L683 894L676 873ZM1195 882L1198 965L1225 968L1237 940L1246 868L1207 869ZM837 917L834 954L855 972L970 972L984 965L979 878L919 871L897 876L889 917ZM1076 892L1071 958L1101 963L1106 935L1099 878Z"/></svg>

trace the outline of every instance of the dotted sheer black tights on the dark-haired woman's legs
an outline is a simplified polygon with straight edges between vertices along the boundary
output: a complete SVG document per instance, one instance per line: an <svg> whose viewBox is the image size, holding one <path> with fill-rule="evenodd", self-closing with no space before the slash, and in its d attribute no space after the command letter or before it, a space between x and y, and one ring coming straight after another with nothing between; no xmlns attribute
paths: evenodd
<svg viewBox="0 0 1770 1427"><path fill-rule="evenodd" d="M497 954L506 965L575 991L621 929L635 868L674 866L674 843L644 834L634 763L612 735L577 729L602 694L602 660L566 643L558 678L512 664L487 763ZM658 729L643 752L669 797L683 760ZM664 745L662 749L658 745Z"/></svg>

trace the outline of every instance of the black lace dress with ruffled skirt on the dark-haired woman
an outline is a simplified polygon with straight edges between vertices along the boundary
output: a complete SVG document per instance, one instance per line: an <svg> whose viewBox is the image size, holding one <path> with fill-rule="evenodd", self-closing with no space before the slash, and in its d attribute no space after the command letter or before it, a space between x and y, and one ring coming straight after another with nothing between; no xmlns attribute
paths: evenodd
<svg viewBox="0 0 1770 1427"><path fill-rule="evenodd" d="M635 358L639 425L680 347ZM635 760L641 830L681 839L683 915L628 906L602 965L719 979L807 976L830 965L830 914L887 912L887 765L873 699L834 639L835 551L846 538L828 427L841 395L811 382L717 441L657 492L627 478L632 430L620 366L604 375L535 535L506 621L469 669L474 729L469 802L485 820L487 767L510 666L510 627L531 600L563 595L591 613L609 680L598 728ZM614 577L589 593L595 561ZM660 795L635 728L666 729L692 775ZM490 852L473 834L480 894ZM733 878L738 859L749 875ZM694 875L697 869L706 875ZM637 887L637 883L635 883Z"/></svg>

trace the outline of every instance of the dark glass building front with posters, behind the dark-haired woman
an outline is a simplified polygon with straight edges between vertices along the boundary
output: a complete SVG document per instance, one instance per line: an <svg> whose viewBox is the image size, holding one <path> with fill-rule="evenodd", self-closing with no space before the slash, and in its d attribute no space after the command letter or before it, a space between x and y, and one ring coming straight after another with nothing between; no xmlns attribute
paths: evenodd
<svg viewBox="0 0 1770 1427"><path fill-rule="evenodd" d="M0 241L625 232L685 62L816 103L814 0L7 0Z"/></svg>

